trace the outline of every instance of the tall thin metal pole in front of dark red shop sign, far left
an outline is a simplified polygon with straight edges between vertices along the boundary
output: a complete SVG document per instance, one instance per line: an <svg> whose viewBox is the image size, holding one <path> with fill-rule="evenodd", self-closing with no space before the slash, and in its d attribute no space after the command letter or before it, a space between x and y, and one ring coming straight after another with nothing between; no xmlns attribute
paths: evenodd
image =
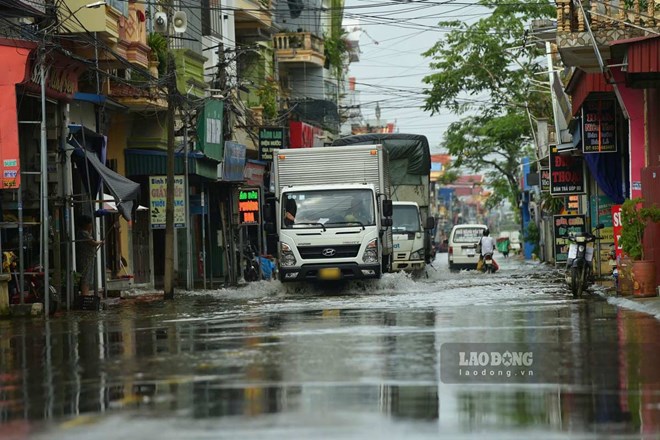
<svg viewBox="0 0 660 440"><path fill-rule="evenodd" d="M42 264L44 270L44 317L48 319L50 310L50 279L48 264L48 145L46 138L46 54L41 48L41 63L39 71L41 75L41 248Z"/></svg>

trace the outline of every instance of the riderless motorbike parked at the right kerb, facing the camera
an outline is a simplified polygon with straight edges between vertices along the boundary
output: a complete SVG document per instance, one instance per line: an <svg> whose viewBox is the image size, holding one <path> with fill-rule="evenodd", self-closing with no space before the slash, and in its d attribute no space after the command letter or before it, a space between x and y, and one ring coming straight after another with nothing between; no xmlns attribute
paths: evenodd
<svg viewBox="0 0 660 440"><path fill-rule="evenodd" d="M605 225L598 224L596 231L603 229ZM574 298L580 298L582 293L587 290L594 282L593 279L593 258L594 243L601 237L593 233L585 232L582 234L569 234L568 241L568 259L566 260L566 283L571 288Z"/></svg>

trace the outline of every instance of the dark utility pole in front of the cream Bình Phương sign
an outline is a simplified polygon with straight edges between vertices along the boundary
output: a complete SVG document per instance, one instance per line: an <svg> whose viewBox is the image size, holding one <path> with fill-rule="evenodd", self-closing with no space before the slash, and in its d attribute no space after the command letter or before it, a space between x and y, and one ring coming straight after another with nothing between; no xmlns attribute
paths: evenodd
<svg viewBox="0 0 660 440"><path fill-rule="evenodd" d="M165 299L174 299L174 96L176 80L174 59L170 54L172 5L167 9L167 190L165 198Z"/></svg>

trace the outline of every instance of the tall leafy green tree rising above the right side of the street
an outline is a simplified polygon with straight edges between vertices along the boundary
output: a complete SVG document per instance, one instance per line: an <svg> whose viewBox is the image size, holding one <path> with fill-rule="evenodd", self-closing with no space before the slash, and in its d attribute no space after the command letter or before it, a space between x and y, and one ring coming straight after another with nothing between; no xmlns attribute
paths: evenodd
<svg viewBox="0 0 660 440"><path fill-rule="evenodd" d="M465 166L485 173L493 188L488 205L504 199L513 206L520 196L520 163L531 155L523 139L531 137L530 116L552 114L550 95L534 81L547 67L545 47L527 29L531 20L552 18L548 0L485 0L491 14L472 24L441 22L443 40L424 53L433 73L425 103L432 113L446 108L461 115L445 134L443 147Z"/></svg>

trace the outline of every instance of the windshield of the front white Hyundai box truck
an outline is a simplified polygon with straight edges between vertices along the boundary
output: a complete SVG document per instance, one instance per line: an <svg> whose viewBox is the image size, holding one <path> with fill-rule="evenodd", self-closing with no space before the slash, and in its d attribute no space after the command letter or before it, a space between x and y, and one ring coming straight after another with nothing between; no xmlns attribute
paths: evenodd
<svg viewBox="0 0 660 440"><path fill-rule="evenodd" d="M284 228L376 224L373 192L366 189L286 192L281 205Z"/></svg>

